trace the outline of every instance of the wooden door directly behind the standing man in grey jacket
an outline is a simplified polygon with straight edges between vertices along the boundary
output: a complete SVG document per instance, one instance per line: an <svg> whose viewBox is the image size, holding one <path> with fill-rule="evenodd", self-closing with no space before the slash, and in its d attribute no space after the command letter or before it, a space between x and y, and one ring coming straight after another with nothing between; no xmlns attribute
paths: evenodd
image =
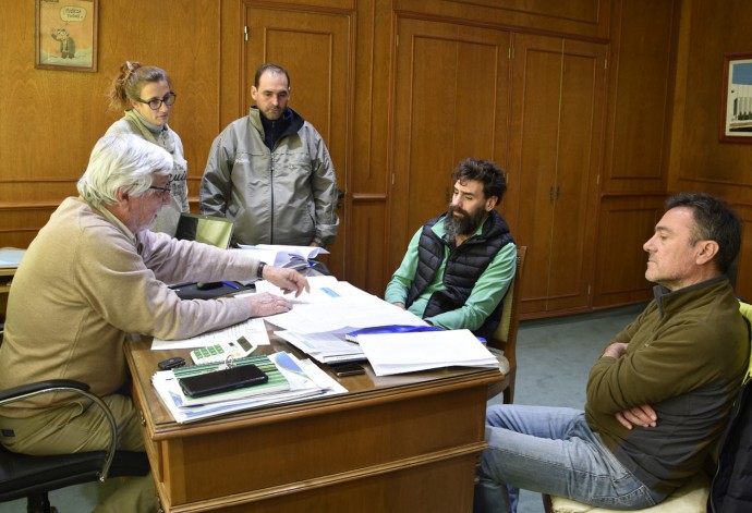
<svg viewBox="0 0 752 513"><path fill-rule="evenodd" d="M350 13L305 12L300 8L245 7L248 40L244 46L244 111L253 105L251 86L256 70L274 62L290 74L290 107L322 134L335 163L340 191L348 183L351 148L352 20ZM340 227L331 255L324 261L347 280L347 198L338 209Z"/></svg>

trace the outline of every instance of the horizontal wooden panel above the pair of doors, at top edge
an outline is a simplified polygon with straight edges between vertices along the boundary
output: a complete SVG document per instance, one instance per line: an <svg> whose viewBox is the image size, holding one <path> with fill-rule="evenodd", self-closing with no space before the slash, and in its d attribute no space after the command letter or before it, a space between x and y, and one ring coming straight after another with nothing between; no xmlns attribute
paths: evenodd
<svg viewBox="0 0 752 513"><path fill-rule="evenodd" d="M395 10L486 26L605 39L610 3L611 0L395 0Z"/></svg>

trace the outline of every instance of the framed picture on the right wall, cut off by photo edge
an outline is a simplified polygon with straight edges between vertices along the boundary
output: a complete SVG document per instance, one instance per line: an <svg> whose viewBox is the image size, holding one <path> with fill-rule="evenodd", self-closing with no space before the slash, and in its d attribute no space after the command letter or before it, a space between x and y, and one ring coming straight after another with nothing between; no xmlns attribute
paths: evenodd
<svg viewBox="0 0 752 513"><path fill-rule="evenodd" d="M752 53L724 56L719 138L752 143Z"/></svg>

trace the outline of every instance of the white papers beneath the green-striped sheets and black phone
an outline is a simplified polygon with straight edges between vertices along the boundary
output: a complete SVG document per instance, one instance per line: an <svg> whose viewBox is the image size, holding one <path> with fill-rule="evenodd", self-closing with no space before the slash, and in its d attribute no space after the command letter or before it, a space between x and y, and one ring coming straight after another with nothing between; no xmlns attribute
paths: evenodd
<svg viewBox="0 0 752 513"><path fill-rule="evenodd" d="M151 384L175 422L181 424L227 415L232 412L294 403L347 392L344 387L311 361L301 361L284 352L275 353L269 356L269 359L274 362L290 384L288 391L205 404L187 404L172 370L161 370L155 374L151 378Z"/></svg>

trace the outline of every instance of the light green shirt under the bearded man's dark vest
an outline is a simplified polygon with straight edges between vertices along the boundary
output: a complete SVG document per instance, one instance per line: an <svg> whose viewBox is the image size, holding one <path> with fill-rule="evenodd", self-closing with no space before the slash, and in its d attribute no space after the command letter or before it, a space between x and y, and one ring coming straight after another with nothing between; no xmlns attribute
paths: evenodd
<svg viewBox="0 0 752 513"><path fill-rule="evenodd" d="M421 227L413 235L408 252L404 254L402 264L399 269L391 277L391 281L387 285L387 291L384 298L388 303L405 303L408 292L412 286L417 270L417 244L421 239ZM444 230L444 222L437 222L432 228L432 231L438 235L441 241L446 234ZM483 231L483 224L478 227L473 236L477 236ZM419 317L423 317L428 300L436 291L444 291L444 271L447 266L447 257L449 256L449 245L444 244L444 259L439 266L434 280L428 284L426 290L419 297L415 298L412 305L408 308L410 312ZM445 312L434 317L428 317L425 320L430 321L434 326L439 328L456 330L469 329L476 330L488 316L494 312L504 295L509 289L509 283L514 277L517 269L517 246L514 243L509 243L504 246L496 254L486 270L481 274L470 293L470 297L461 308Z"/></svg>

